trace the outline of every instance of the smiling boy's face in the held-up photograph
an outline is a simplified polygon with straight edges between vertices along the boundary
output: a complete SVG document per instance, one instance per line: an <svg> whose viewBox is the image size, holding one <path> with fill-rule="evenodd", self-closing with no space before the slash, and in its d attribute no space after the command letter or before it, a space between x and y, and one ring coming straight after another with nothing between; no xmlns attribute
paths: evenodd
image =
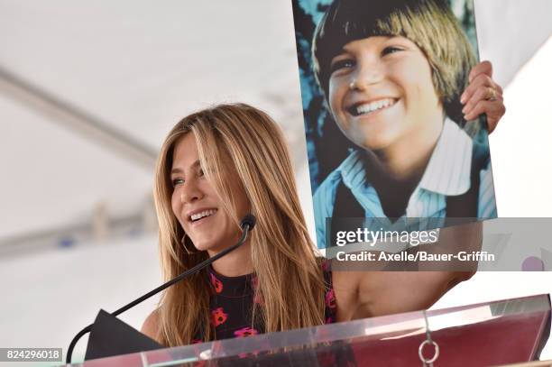
<svg viewBox="0 0 552 367"><path fill-rule="evenodd" d="M443 122L429 62L404 37L345 44L331 61L328 99L341 131L366 150L389 148Z"/></svg>

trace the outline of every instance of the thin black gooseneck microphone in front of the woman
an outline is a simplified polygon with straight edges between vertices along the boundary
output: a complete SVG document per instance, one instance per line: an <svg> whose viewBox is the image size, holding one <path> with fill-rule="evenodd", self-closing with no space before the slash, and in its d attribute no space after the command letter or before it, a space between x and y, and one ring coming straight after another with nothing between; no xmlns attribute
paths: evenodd
<svg viewBox="0 0 552 367"><path fill-rule="evenodd" d="M178 283L180 280L184 280L184 279L188 278L190 275L195 274L198 271L206 268L208 265L210 265L211 263L217 261L218 259L225 256L226 254L228 254L230 252L233 252L235 249L237 249L242 244L244 244L245 240L247 239L247 234L249 234L249 231L251 231L253 229L256 222L257 222L257 218L255 218L255 216L253 216L253 214L247 214L246 216L244 216L244 218L240 222L240 227L242 228L242 237L240 238L240 240L237 243L235 243L235 245L233 245L231 247L228 247L224 251L218 252L215 256L207 259L206 261L202 261L202 262L198 263L198 265L194 266L193 268L189 269L188 271L184 271L178 277L176 277L172 280L169 280L164 284L161 284L161 286L159 286L156 289L153 289L150 292L144 294L142 297L134 299L128 305L125 305L124 307L121 307L121 308L115 310L115 312L111 313L111 316L116 317L117 315L122 314L124 311L138 305L139 303L142 303L144 300L146 300L148 298L151 298L152 296L154 296L157 293L161 292L161 290L167 289L171 285L173 285L175 283ZM73 340L71 340L71 343L69 344L69 348L67 350L67 357L66 357L66 362L68 364L71 362L71 355L73 354L73 349L75 348L75 345L77 344L78 339L80 339L83 335L86 335L87 333L89 333L92 330L92 326L94 326L94 324L88 325L87 327L82 329L80 332L78 332L78 334L75 335ZM132 353L132 352L126 352L126 353Z"/></svg>

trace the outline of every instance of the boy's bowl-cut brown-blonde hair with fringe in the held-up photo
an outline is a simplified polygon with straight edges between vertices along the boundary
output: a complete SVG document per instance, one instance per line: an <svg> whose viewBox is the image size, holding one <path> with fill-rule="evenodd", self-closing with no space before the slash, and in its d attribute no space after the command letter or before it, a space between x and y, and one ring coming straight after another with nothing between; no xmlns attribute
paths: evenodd
<svg viewBox="0 0 552 367"><path fill-rule="evenodd" d="M400 36L428 59L446 115L464 126L460 95L475 65L474 50L445 0L336 0L318 23L312 42L314 72L328 96L331 60L350 41Z"/></svg>

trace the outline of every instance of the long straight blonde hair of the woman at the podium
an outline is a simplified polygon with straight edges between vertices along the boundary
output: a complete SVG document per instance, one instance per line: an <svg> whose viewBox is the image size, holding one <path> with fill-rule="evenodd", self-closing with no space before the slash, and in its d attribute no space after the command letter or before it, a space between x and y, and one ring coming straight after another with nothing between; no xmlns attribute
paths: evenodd
<svg viewBox="0 0 552 367"><path fill-rule="evenodd" d="M253 106L220 105L189 115L163 143L154 198L165 280L207 259L206 252L189 253L183 248L184 231L170 206L172 154L187 133L195 135L201 167L221 197L223 209L234 218L236 229L239 218L225 180L225 162L234 165L257 218L251 256L258 279L256 297L263 302L254 305L254 317L262 320L265 332L323 324L324 278L299 205L290 155L278 126ZM205 341L214 338L210 291L206 271L164 291L158 310L162 344L189 344L198 333Z"/></svg>

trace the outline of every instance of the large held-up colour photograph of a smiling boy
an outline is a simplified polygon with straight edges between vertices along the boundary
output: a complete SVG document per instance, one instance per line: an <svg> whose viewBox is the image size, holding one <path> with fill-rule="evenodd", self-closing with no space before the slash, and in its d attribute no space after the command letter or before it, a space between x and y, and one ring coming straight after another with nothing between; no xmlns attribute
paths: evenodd
<svg viewBox="0 0 552 367"><path fill-rule="evenodd" d="M319 248L327 217L496 217L485 120L460 101L471 0L297 0L294 17Z"/></svg>

